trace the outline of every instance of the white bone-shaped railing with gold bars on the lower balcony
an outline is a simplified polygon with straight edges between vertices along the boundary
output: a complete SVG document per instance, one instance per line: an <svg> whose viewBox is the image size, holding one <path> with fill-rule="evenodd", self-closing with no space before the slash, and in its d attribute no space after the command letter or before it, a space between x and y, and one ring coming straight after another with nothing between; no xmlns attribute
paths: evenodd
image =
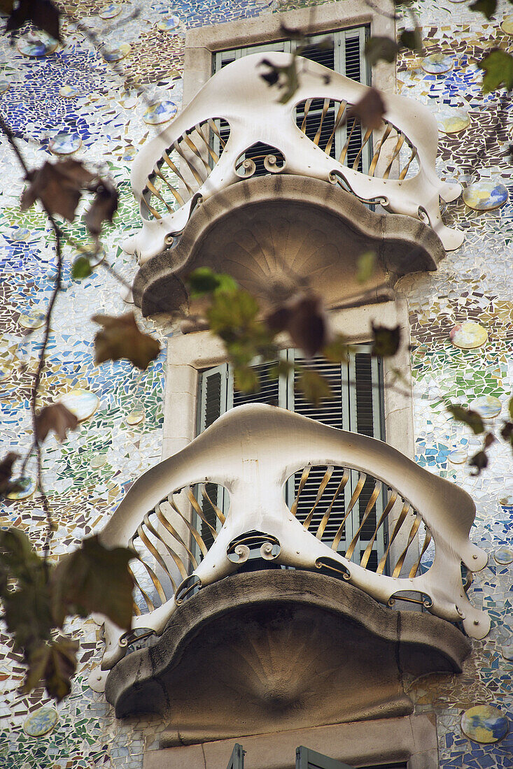
<svg viewBox="0 0 513 769"><path fill-rule="evenodd" d="M317 474L314 488L310 474ZM287 506L290 478L295 498ZM384 604L421 603L483 638L488 615L470 603L461 580L462 561L468 571L487 563L468 539L474 514L465 491L382 441L249 404L143 474L101 539L137 554L132 636L161 633L179 604L237 571L257 549L273 565L322 569ZM433 546L431 566L420 568ZM106 622L103 670L126 653L129 638Z"/></svg>

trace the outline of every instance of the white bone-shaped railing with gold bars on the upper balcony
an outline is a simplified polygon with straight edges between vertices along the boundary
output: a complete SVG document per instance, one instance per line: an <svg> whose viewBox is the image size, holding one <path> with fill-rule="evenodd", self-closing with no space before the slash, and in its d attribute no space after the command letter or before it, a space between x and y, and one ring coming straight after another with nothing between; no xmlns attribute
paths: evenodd
<svg viewBox="0 0 513 769"><path fill-rule="evenodd" d="M267 55L283 66L290 55ZM173 123L139 151L132 166L132 189L140 201L142 229L125 243L144 262L179 235L198 201L253 175L258 148L267 149L263 169L340 184L360 200L427 221L444 248L458 248L460 231L445 227L439 197L451 201L461 185L441 181L435 172L438 128L428 108L403 96L384 95L383 128L362 130L350 107L368 92L366 85L298 60L300 83L286 103L261 78L262 55L227 65L203 86ZM314 131L309 129L315 125ZM354 139L362 132L361 145ZM340 151L335 146L344 134ZM369 168L361 160L371 148ZM397 178L392 178L397 177Z"/></svg>

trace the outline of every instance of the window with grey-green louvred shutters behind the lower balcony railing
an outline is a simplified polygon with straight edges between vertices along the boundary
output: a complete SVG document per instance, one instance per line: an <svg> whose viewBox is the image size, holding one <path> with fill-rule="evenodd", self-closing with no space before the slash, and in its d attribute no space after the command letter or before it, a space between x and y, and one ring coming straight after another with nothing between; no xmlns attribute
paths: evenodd
<svg viewBox="0 0 513 769"><path fill-rule="evenodd" d="M267 403L281 408L287 408L289 411L295 411L297 414L316 419L330 427L339 428L348 431L358 432L368 435L371 438L384 438L383 429L383 408L382 398L382 371L381 361L372 358L371 349L368 345L359 345L357 351L350 354L347 363L342 365L334 364L324 358L303 358L300 351L286 350L282 353L287 361L295 361L303 368L317 371L330 383L333 397L321 401L315 405L305 400L302 394L297 392L297 371L290 371L287 376L281 376L279 379L270 376L273 368L272 362L255 365L260 381L260 390L245 394L234 391L233 375L227 364L222 364L214 368L202 371L199 375L199 398L198 398L198 417L197 433L203 432L210 424L213 424L221 414L230 408L246 403ZM315 467L310 471L307 483L300 494L299 504L297 506L297 518L304 521L310 509L314 505L320 482L324 477L327 468ZM326 498L333 497L337 491L344 475L344 468L335 468L331 475L327 487ZM357 473L351 474L354 477L344 487L344 491L337 497L337 501L330 513L322 539L324 541L333 541L337 530L340 527L340 521L344 519L345 510L350 502L351 495L357 483ZM287 482L285 489L287 504L292 504L299 489L301 473L297 473ZM338 550L344 553L348 544L353 540L354 535L360 528L363 520L367 503L371 498L374 489L374 480L367 478L364 488L360 493L357 504L354 505L350 517L344 524L344 532L340 538ZM224 491L213 484L209 484L206 489L214 504L220 508L226 509L227 500L223 498ZM327 504L327 503L326 503ZM312 521L313 528L320 524L326 504L319 504L314 512ZM207 520L214 525L216 515L209 508L209 503L203 500L203 513ZM360 563L367 545L373 537L378 518L383 511L383 499L377 500L371 514L367 515L364 525L361 528L357 547L354 549L354 560ZM200 522L198 521L198 524ZM382 528L379 530L382 532ZM211 544L211 534L208 528L203 524L201 531L207 547ZM379 534L372 544L370 557L367 562L367 568L376 569L381 557L384 554L385 534Z"/></svg>

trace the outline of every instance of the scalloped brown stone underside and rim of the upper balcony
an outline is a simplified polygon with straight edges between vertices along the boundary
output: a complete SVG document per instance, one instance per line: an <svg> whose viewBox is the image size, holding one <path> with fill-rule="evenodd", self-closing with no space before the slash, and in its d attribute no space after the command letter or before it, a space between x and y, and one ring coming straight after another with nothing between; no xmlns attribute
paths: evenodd
<svg viewBox="0 0 513 769"><path fill-rule="evenodd" d="M374 251L374 275L358 280L360 256ZM269 175L242 180L196 205L173 248L142 265L133 286L143 315L187 305L183 281L202 266L233 275L263 306L307 281L327 308L358 297L389 298L401 275L435 270L445 255L418 219L377 214L319 179Z"/></svg>

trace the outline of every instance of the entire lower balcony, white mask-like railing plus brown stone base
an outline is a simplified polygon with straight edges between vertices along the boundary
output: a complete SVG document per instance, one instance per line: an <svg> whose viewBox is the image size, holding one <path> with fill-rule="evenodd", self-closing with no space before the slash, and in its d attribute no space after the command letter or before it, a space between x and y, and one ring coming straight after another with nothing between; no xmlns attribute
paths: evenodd
<svg viewBox="0 0 513 769"><path fill-rule="evenodd" d="M461 578L462 562L487 562L474 513L374 438L262 404L228 411L143 474L102 532L138 555L134 618L128 634L106 623L90 683L119 716L169 712L202 739L411 713L405 676L461 670L455 624L488 633Z"/></svg>

